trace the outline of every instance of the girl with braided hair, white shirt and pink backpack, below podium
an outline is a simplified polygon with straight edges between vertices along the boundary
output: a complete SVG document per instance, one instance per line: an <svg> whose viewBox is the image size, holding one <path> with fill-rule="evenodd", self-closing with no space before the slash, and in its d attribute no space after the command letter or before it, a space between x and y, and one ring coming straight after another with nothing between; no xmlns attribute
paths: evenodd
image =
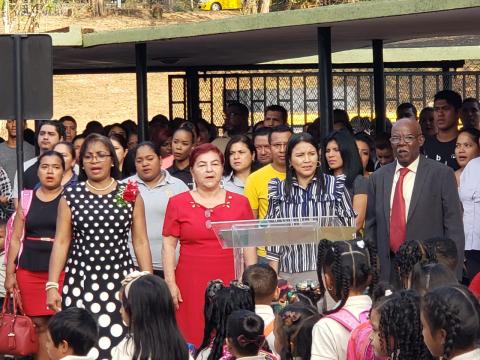
<svg viewBox="0 0 480 360"><path fill-rule="evenodd" d="M375 248L363 240L320 241L317 273L320 292L337 302L313 327L312 359L346 359L351 331L368 321L377 282Z"/></svg>

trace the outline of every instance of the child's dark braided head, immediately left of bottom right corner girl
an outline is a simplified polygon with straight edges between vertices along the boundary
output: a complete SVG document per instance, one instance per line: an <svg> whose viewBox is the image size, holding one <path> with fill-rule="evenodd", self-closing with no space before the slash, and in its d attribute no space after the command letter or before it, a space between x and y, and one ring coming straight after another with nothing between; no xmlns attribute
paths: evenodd
<svg viewBox="0 0 480 360"><path fill-rule="evenodd" d="M420 296L413 290L387 294L372 308L373 348L376 356L392 360L432 359L423 343Z"/></svg>

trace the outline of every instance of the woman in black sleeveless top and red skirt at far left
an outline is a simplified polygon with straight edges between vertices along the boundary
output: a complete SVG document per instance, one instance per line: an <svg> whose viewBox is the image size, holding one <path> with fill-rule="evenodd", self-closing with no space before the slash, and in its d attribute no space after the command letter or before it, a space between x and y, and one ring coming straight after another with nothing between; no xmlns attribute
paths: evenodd
<svg viewBox="0 0 480 360"><path fill-rule="evenodd" d="M48 279L50 253L54 244L57 209L62 193L65 161L55 151L47 151L38 158L40 187L33 191L28 211L24 213L19 202L13 234L8 250L5 289L10 293L20 290L23 310L36 326L39 349L36 359L48 359L47 323L53 311L45 307L45 283ZM22 215L22 216L20 216ZM23 241L22 233L24 233ZM59 287L63 283L63 266L58 269Z"/></svg>

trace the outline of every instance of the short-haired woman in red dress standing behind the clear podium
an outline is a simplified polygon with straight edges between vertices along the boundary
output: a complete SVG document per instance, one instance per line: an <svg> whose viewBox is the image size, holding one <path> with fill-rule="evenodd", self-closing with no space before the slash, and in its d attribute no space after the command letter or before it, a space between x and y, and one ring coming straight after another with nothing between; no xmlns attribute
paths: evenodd
<svg viewBox="0 0 480 360"><path fill-rule="evenodd" d="M233 251L222 249L213 221L250 220L247 198L220 186L224 158L212 144L196 147L190 166L196 189L171 197L163 227L163 268L177 308L177 321L189 343L199 346L204 330L204 295L208 282L234 279ZM180 257L175 269L175 248ZM244 252L245 265L256 263L255 248Z"/></svg>

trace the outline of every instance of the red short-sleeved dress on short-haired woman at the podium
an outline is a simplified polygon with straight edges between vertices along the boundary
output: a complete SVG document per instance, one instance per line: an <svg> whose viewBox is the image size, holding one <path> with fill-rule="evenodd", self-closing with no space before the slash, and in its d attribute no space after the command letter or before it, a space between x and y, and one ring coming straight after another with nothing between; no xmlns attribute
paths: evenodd
<svg viewBox="0 0 480 360"><path fill-rule="evenodd" d="M207 210L195 203L189 191L170 198L163 236L180 239L175 279L183 302L177 322L187 342L199 346L203 338L205 289L210 280L234 279L233 251L222 249L210 221L250 220L253 213L246 197L227 191L225 203Z"/></svg>

